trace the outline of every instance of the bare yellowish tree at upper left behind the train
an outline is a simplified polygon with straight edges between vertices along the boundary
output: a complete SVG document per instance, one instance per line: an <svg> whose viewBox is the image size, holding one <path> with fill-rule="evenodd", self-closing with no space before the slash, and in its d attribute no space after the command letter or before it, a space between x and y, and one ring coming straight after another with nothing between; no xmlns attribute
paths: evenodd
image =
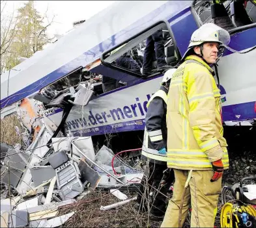
<svg viewBox="0 0 256 228"><path fill-rule="evenodd" d="M29 1L18 8L16 17L14 13L10 16L8 23L1 21L1 74L20 64L21 57L29 58L42 50L53 39L48 37L46 30L53 23L54 16L49 19L47 12L48 8L41 16L34 1Z"/></svg>

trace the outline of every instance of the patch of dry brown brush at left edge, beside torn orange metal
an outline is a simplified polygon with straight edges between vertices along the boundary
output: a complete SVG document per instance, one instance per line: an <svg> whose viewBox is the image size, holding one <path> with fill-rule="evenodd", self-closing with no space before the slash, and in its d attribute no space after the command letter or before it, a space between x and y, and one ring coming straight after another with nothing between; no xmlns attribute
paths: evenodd
<svg viewBox="0 0 256 228"><path fill-rule="evenodd" d="M20 121L15 114L5 117L1 120L1 140L9 145L21 144L21 137L16 134L15 126L18 126L21 132Z"/></svg>

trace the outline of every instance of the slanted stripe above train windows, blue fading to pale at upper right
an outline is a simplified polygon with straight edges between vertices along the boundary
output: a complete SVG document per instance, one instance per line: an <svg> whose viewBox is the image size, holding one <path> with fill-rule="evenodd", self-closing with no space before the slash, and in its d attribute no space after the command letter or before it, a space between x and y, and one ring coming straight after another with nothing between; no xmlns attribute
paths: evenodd
<svg viewBox="0 0 256 228"><path fill-rule="evenodd" d="M6 107L7 105L11 105L16 101L20 101L20 99L23 99L24 97L27 97L35 93L36 91L40 90L41 88L44 88L51 82L61 79L61 77L70 73L71 71L74 71L76 68L79 68L80 66L86 66L87 64L100 58L102 53L107 49L110 49L111 47L114 47L115 45L120 44L124 40L127 40L129 37L134 36L134 34L136 34L137 32L142 31L143 29L146 29L150 25L150 23L152 23L152 16L154 16L154 18L156 17L169 18L170 14L177 13L178 10L180 11L184 10L184 7L187 6L188 3L184 3L182 5L179 3L178 5L179 8L176 8L176 10L169 11L169 12L168 10L166 10L166 6L168 5L171 6L173 5L173 3L169 1L164 5L160 6L159 8L156 8L155 10L150 12L150 14L147 14L147 16L141 18L138 21L135 21L129 27L123 29L117 34L114 34L113 36L111 36L104 42L101 42L100 44L96 45L95 47L92 47L92 49L86 51L85 53L83 53L83 55L68 62L68 64L61 66L57 70L49 73L42 79L36 82L33 82L33 84L30 84L29 86L19 90L18 92L12 95L9 95L8 97L5 97L4 99L1 100L0 107L3 108L3 107Z"/></svg>

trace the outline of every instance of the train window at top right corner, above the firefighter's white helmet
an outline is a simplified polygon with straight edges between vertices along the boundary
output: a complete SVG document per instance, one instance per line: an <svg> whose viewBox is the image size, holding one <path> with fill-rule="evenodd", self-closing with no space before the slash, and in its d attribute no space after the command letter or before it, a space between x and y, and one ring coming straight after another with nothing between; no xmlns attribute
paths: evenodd
<svg viewBox="0 0 256 228"><path fill-rule="evenodd" d="M215 23L227 31L256 27L256 1L194 1L193 8L201 24Z"/></svg>

